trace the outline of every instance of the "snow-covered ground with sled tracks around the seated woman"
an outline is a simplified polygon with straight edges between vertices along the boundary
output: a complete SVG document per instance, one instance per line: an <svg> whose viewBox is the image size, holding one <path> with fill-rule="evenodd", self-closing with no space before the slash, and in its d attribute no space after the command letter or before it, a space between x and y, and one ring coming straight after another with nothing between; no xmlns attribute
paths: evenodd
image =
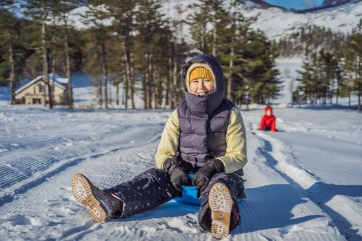
<svg viewBox="0 0 362 241"><path fill-rule="evenodd" d="M170 111L0 105L0 240L212 240L177 202L96 224L70 193L81 172L101 188L154 166ZM248 198L230 240L361 240L362 115L275 109L281 132L243 111Z"/></svg>

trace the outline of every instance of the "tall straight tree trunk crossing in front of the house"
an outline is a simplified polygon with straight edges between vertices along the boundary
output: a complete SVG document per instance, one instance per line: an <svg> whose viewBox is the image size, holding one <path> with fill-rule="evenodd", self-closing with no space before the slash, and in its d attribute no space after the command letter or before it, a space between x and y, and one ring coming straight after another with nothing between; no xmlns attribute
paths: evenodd
<svg viewBox="0 0 362 241"><path fill-rule="evenodd" d="M48 58L46 51L46 17L47 11L46 7L43 6L43 12L41 13L41 48L42 48L42 57L43 57L43 76L44 82L48 86L48 98L49 98L49 108L52 109L53 101L52 101L52 88L50 87L49 79L48 79ZM46 105L46 90L44 88L44 105Z"/></svg>

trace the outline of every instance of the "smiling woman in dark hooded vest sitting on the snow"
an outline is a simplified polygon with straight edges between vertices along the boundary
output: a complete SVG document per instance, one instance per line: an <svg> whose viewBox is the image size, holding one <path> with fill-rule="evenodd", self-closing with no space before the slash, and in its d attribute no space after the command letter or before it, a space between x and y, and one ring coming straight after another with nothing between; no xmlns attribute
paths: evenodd
<svg viewBox="0 0 362 241"><path fill-rule="evenodd" d="M105 190L82 174L73 176L73 195L90 209L92 220L152 209L181 196L182 185L194 185L201 195L199 224L205 231L225 238L240 224L238 198L243 196L242 167L248 161L241 113L223 97L223 72L211 54L185 63L181 80L185 99L165 124L157 168Z"/></svg>

